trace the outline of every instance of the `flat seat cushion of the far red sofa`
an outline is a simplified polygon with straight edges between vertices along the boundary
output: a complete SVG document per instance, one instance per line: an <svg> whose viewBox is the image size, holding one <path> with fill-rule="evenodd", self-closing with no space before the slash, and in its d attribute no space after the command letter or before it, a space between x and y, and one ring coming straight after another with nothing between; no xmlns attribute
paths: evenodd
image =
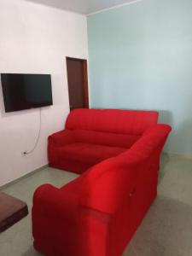
<svg viewBox="0 0 192 256"><path fill-rule="evenodd" d="M101 160L121 154L126 149L89 143L71 143L59 148L58 157L60 160L76 160L95 164Z"/></svg>

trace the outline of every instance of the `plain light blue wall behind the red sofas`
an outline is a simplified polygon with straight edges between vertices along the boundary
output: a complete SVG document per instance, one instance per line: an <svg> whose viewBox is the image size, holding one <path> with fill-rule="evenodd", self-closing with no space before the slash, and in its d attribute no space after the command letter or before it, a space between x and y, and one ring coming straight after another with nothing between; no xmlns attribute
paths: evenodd
<svg viewBox="0 0 192 256"><path fill-rule="evenodd" d="M143 0L88 17L91 108L160 110L166 151L192 155L192 1Z"/></svg>

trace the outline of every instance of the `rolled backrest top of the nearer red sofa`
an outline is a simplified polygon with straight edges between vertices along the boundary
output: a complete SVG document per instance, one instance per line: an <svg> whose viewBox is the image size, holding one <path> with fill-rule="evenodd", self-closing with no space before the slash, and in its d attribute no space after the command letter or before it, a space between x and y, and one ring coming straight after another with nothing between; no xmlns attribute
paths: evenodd
<svg viewBox="0 0 192 256"><path fill-rule="evenodd" d="M154 162L159 159L170 131L169 125L154 125L131 149L84 172L81 204L101 212L118 211L136 188L138 177L148 179L148 168L157 172Z"/></svg>

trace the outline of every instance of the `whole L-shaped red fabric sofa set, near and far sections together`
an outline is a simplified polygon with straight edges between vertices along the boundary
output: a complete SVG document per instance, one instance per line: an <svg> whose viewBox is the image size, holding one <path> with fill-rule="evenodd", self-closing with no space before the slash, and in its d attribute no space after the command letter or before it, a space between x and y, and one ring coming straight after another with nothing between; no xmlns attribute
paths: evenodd
<svg viewBox="0 0 192 256"><path fill-rule="evenodd" d="M157 118L120 110L69 114L66 130L49 137L50 166L90 168L61 189L44 184L35 191L32 233L39 252L122 255L156 196L160 152L171 131Z"/></svg>

